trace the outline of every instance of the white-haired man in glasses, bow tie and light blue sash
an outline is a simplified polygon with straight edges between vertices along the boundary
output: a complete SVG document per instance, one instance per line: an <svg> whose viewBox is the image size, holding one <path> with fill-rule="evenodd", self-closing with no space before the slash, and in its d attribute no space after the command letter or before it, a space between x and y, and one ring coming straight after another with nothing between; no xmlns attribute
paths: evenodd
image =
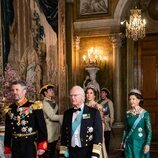
<svg viewBox="0 0 158 158"><path fill-rule="evenodd" d="M85 93L80 86L70 90L72 108L64 113L60 157L100 157L102 121L97 109L84 104Z"/></svg>

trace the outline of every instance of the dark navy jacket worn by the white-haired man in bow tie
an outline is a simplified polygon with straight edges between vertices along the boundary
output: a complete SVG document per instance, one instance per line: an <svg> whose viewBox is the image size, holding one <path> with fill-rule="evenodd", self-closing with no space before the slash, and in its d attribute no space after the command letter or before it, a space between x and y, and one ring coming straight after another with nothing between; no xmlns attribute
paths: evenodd
<svg viewBox="0 0 158 158"><path fill-rule="evenodd" d="M72 116L73 108L67 110L64 113L64 119L61 130L61 149L60 151L64 154L66 148L71 147L72 138ZM102 143L102 121L100 112L97 109L84 105L81 129L80 129L80 140L82 147L93 147L93 145L100 145ZM92 149L93 150L93 149Z"/></svg>

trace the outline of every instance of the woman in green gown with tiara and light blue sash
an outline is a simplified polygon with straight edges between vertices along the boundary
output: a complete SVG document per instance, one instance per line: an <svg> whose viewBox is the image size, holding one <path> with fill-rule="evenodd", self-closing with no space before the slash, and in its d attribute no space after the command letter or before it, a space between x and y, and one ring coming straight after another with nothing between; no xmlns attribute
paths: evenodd
<svg viewBox="0 0 158 158"><path fill-rule="evenodd" d="M143 96L138 89L129 93L131 109L126 112L125 130L122 139L125 158L150 158L152 137L149 112L143 109Z"/></svg>

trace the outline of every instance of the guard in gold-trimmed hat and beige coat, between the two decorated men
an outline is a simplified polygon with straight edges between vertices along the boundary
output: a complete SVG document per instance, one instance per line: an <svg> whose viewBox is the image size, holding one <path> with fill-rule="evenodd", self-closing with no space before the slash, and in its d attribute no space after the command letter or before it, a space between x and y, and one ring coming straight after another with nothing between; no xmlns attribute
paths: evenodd
<svg viewBox="0 0 158 158"><path fill-rule="evenodd" d="M55 158L56 145L60 137L60 128L63 115L58 114L58 105L55 100L55 86L46 84L40 89L40 94L44 96L43 112L48 131L48 151L44 153L44 158Z"/></svg>

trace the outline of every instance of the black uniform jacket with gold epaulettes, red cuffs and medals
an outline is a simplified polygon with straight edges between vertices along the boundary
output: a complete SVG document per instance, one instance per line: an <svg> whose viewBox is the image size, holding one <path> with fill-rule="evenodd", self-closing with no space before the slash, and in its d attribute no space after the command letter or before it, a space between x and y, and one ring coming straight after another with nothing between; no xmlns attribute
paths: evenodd
<svg viewBox="0 0 158 158"><path fill-rule="evenodd" d="M11 104L6 111L5 149L11 150L12 140L36 141L38 148L47 148L47 129L42 111L42 103L26 102L20 106ZM38 133L38 137L37 137Z"/></svg>

